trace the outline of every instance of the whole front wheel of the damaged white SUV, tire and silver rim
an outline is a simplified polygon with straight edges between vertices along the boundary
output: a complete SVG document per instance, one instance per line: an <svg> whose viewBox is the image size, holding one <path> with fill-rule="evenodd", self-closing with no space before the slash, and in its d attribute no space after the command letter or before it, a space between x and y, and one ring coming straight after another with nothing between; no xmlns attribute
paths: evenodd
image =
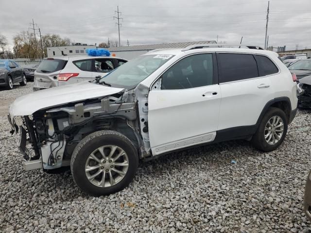
<svg viewBox="0 0 311 233"><path fill-rule="evenodd" d="M74 182L84 192L107 195L131 183L138 167L138 154L123 134L97 131L76 146L70 167Z"/></svg>

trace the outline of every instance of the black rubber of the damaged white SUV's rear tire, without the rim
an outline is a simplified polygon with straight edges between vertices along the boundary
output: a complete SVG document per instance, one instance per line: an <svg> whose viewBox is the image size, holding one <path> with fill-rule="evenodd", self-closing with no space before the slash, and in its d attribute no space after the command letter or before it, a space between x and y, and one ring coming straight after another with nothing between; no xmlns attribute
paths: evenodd
<svg viewBox="0 0 311 233"><path fill-rule="evenodd" d="M264 135L265 135L265 126L268 123L268 120L270 120L271 117L273 116L279 116L283 120L284 129L283 134L281 135L279 140L274 145L271 145L266 141ZM279 108L270 107L268 111L265 113L265 115L262 117L258 129L256 133L253 135L251 143L258 150L262 151L276 150L276 148L278 148L279 145L281 145L282 142L284 141L284 138L287 133L287 127L288 127L288 118L285 115L285 113Z"/></svg>

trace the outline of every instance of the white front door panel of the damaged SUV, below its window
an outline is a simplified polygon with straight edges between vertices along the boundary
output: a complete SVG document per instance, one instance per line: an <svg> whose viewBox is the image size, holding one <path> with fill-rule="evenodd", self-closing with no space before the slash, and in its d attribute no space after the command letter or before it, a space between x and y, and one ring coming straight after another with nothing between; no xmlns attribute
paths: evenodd
<svg viewBox="0 0 311 233"><path fill-rule="evenodd" d="M221 105L218 84L182 90L153 89L148 102L150 146L154 155L214 140Z"/></svg>

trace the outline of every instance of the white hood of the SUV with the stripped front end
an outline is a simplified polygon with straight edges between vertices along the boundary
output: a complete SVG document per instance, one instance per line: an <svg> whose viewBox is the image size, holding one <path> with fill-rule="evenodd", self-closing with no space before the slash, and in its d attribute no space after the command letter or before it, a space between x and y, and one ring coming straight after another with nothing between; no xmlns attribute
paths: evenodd
<svg viewBox="0 0 311 233"><path fill-rule="evenodd" d="M9 106L9 113L12 118L14 116L29 116L40 109L79 100L96 99L122 90L124 89L88 82L49 88L18 97Z"/></svg>

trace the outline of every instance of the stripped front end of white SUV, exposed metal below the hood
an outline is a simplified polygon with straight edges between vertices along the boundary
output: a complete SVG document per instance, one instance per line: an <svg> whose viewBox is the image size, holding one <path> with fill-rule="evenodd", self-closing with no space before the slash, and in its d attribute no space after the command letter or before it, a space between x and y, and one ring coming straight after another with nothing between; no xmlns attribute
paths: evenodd
<svg viewBox="0 0 311 233"><path fill-rule="evenodd" d="M8 115L11 133L19 133L18 148L23 154L24 169L43 168L48 171L70 166L71 154L77 144L86 135L99 130L114 130L124 134L136 146L141 158L149 156L149 137L143 137L140 133L141 124L145 127L148 125L139 120L139 112L147 115L147 96L139 96L145 98L144 102L141 99L139 103L141 111L135 90L124 89L104 98L38 110L31 116L21 116L21 125L15 120L17 116ZM29 144L33 150L27 148Z"/></svg>

